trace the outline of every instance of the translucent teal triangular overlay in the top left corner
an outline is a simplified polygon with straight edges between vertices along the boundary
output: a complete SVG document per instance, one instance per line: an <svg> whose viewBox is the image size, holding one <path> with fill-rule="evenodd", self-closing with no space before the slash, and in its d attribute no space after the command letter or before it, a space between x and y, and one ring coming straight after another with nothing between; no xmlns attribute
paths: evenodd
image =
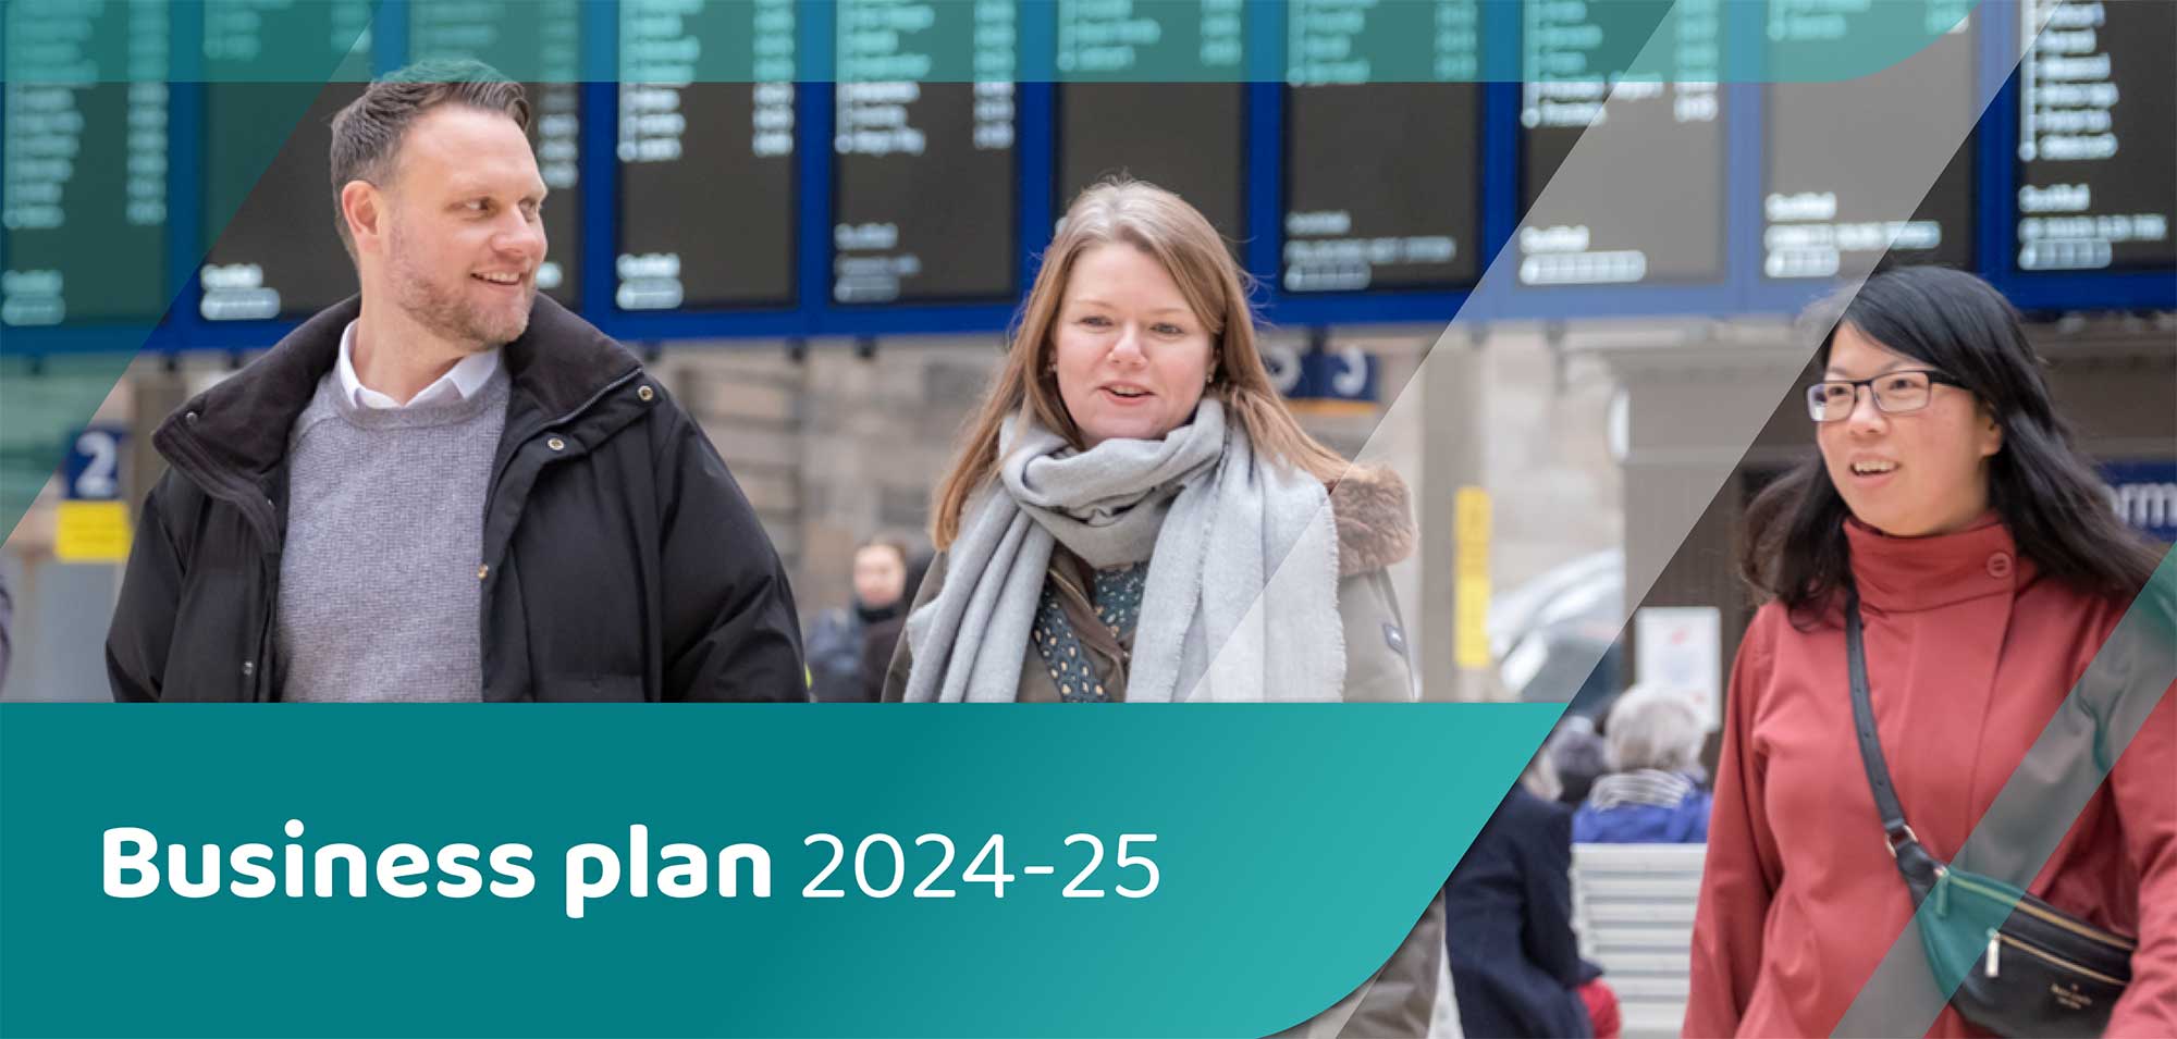
<svg viewBox="0 0 2177 1039"><path fill-rule="evenodd" d="M196 306L183 291L189 276L274 157L329 148L322 122L305 115L327 80L368 78L377 9L0 2L0 191L15 191L0 198L0 539L155 341L161 315ZM170 170L192 152L174 137L192 133L207 161ZM331 222L331 189L303 187L324 193Z"/></svg>

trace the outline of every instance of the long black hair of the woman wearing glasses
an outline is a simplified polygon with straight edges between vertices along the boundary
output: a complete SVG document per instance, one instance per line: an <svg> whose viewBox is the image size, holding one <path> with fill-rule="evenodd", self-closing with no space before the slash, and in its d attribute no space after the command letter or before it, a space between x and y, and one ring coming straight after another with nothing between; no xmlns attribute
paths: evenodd
<svg viewBox="0 0 2177 1039"><path fill-rule="evenodd" d="M1840 309L1833 300L1813 313ZM2073 448L2070 424L2057 415L2040 356L2003 293L1944 267L1877 274L1822 330L1818 370L1846 324L1957 378L1994 415L2003 450L1988 459L1988 498L2020 554L2088 591L2131 596L2147 585L2160 552L2116 517L2094 463ZM1846 515L1822 454L1809 452L1748 504L1739 576L1792 613L1827 602L1850 576Z"/></svg>

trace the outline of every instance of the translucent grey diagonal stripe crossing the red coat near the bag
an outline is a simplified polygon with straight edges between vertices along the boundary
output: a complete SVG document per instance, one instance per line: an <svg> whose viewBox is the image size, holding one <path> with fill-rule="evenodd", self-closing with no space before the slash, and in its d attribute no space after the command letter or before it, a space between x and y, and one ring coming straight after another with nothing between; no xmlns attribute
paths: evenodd
<svg viewBox="0 0 2177 1039"><path fill-rule="evenodd" d="M2125 611L2055 717L2027 750L1953 863L2027 887L2086 811L2147 715L2177 683L2177 550ZM1905 880L1898 878L1903 885ZM1935 978L1920 946L1922 904L1890 946L1835 1035L1927 1035L1964 978Z"/></svg>

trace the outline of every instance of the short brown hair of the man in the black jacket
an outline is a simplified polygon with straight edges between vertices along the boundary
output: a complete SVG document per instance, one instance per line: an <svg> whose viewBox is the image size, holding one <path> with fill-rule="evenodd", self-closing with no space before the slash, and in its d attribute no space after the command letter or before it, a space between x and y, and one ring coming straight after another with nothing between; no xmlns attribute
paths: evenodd
<svg viewBox="0 0 2177 1039"><path fill-rule="evenodd" d="M348 259L355 259L355 239L348 237L340 189L348 180L383 187L409 124L440 104L505 113L529 130L529 98L522 85L481 61L418 61L364 87L361 98L333 115L333 230L340 233Z"/></svg>

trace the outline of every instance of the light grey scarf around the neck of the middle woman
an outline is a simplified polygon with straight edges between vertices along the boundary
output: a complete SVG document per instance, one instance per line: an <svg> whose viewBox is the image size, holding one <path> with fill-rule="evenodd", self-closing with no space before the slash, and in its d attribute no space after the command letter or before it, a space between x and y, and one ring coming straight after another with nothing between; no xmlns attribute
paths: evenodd
<svg viewBox="0 0 2177 1039"><path fill-rule="evenodd" d="M908 702L1012 702L1051 548L1149 561L1130 702L1339 700L1345 643L1330 496L1256 456L1204 398L1156 441L1073 450L1028 411L969 502L945 585L908 617Z"/></svg>

